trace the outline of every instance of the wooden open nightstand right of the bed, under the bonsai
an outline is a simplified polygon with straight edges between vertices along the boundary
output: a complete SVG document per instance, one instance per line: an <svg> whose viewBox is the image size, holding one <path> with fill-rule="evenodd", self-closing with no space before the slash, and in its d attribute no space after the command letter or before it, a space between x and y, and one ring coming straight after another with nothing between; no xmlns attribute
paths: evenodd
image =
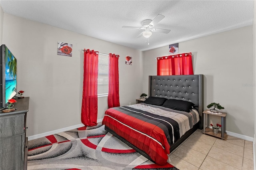
<svg viewBox="0 0 256 170"><path fill-rule="evenodd" d="M210 113L208 111L209 110L203 111L203 113L204 113L203 133L224 140L226 138L226 135L227 135L227 133L226 133L226 115L227 115L227 113L220 112L222 114L214 114L214 113ZM221 132L219 131L218 133L214 133L212 128L208 128L209 127L209 117L208 117L208 115L221 117Z"/></svg>

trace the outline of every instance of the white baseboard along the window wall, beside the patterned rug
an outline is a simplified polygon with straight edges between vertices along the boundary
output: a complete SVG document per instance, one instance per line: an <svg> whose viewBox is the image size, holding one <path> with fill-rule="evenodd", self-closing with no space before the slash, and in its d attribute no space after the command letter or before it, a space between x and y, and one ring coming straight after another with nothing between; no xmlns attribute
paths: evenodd
<svg viewBox="0 0 256 170"><path fill-rule="evenodd" d="M102 120L103 119L98 119L97 123L102 122ZM28 136L28 140L34 140L34 139L42 138L42 137L49 136L49 135L52 135L52 134L65 132L65 131L72 130L72 129L75 129L75 128L80 128L80 127L84 127L84 124L81 123L81 124L70 126L70 127L60 128L60 129L57 129L57 130L52 130L50 132L35 134L35 135L32 135L32 136Z"/></svg>

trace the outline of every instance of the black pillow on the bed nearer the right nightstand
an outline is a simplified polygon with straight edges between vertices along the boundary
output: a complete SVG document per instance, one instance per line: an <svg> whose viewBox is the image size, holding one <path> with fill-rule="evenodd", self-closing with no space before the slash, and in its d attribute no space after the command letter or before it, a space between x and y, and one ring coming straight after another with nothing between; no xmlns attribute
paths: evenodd
<svg viewBox="0 0 256 170"><path fill-rule="evenodd" d="M167 107L178 111L190 112L194 105L194 103L189 101L168 99L164 102L162 107Z"/></svg>

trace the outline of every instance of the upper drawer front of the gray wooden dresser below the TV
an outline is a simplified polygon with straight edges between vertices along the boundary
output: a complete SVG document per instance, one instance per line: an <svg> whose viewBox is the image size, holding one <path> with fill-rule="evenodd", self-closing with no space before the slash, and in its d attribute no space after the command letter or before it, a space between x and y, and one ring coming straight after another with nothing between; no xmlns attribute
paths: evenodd
<svg viewBox="0 0 256 170"><path fill-rule="evenodd" d="M25 114L0 117L0 138L25 133Z"/></svg>

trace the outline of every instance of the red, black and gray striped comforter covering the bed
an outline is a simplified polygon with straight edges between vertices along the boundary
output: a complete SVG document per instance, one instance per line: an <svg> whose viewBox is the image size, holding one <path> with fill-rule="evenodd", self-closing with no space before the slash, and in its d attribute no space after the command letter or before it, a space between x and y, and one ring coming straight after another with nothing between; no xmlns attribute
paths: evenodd
<svg viewBox="0 0 256 170"><path fill-rule="evenodd" d="M139 103L108 109L102 124L164 165L172 144L198 121L196 109L188 113Z"/></svg>

